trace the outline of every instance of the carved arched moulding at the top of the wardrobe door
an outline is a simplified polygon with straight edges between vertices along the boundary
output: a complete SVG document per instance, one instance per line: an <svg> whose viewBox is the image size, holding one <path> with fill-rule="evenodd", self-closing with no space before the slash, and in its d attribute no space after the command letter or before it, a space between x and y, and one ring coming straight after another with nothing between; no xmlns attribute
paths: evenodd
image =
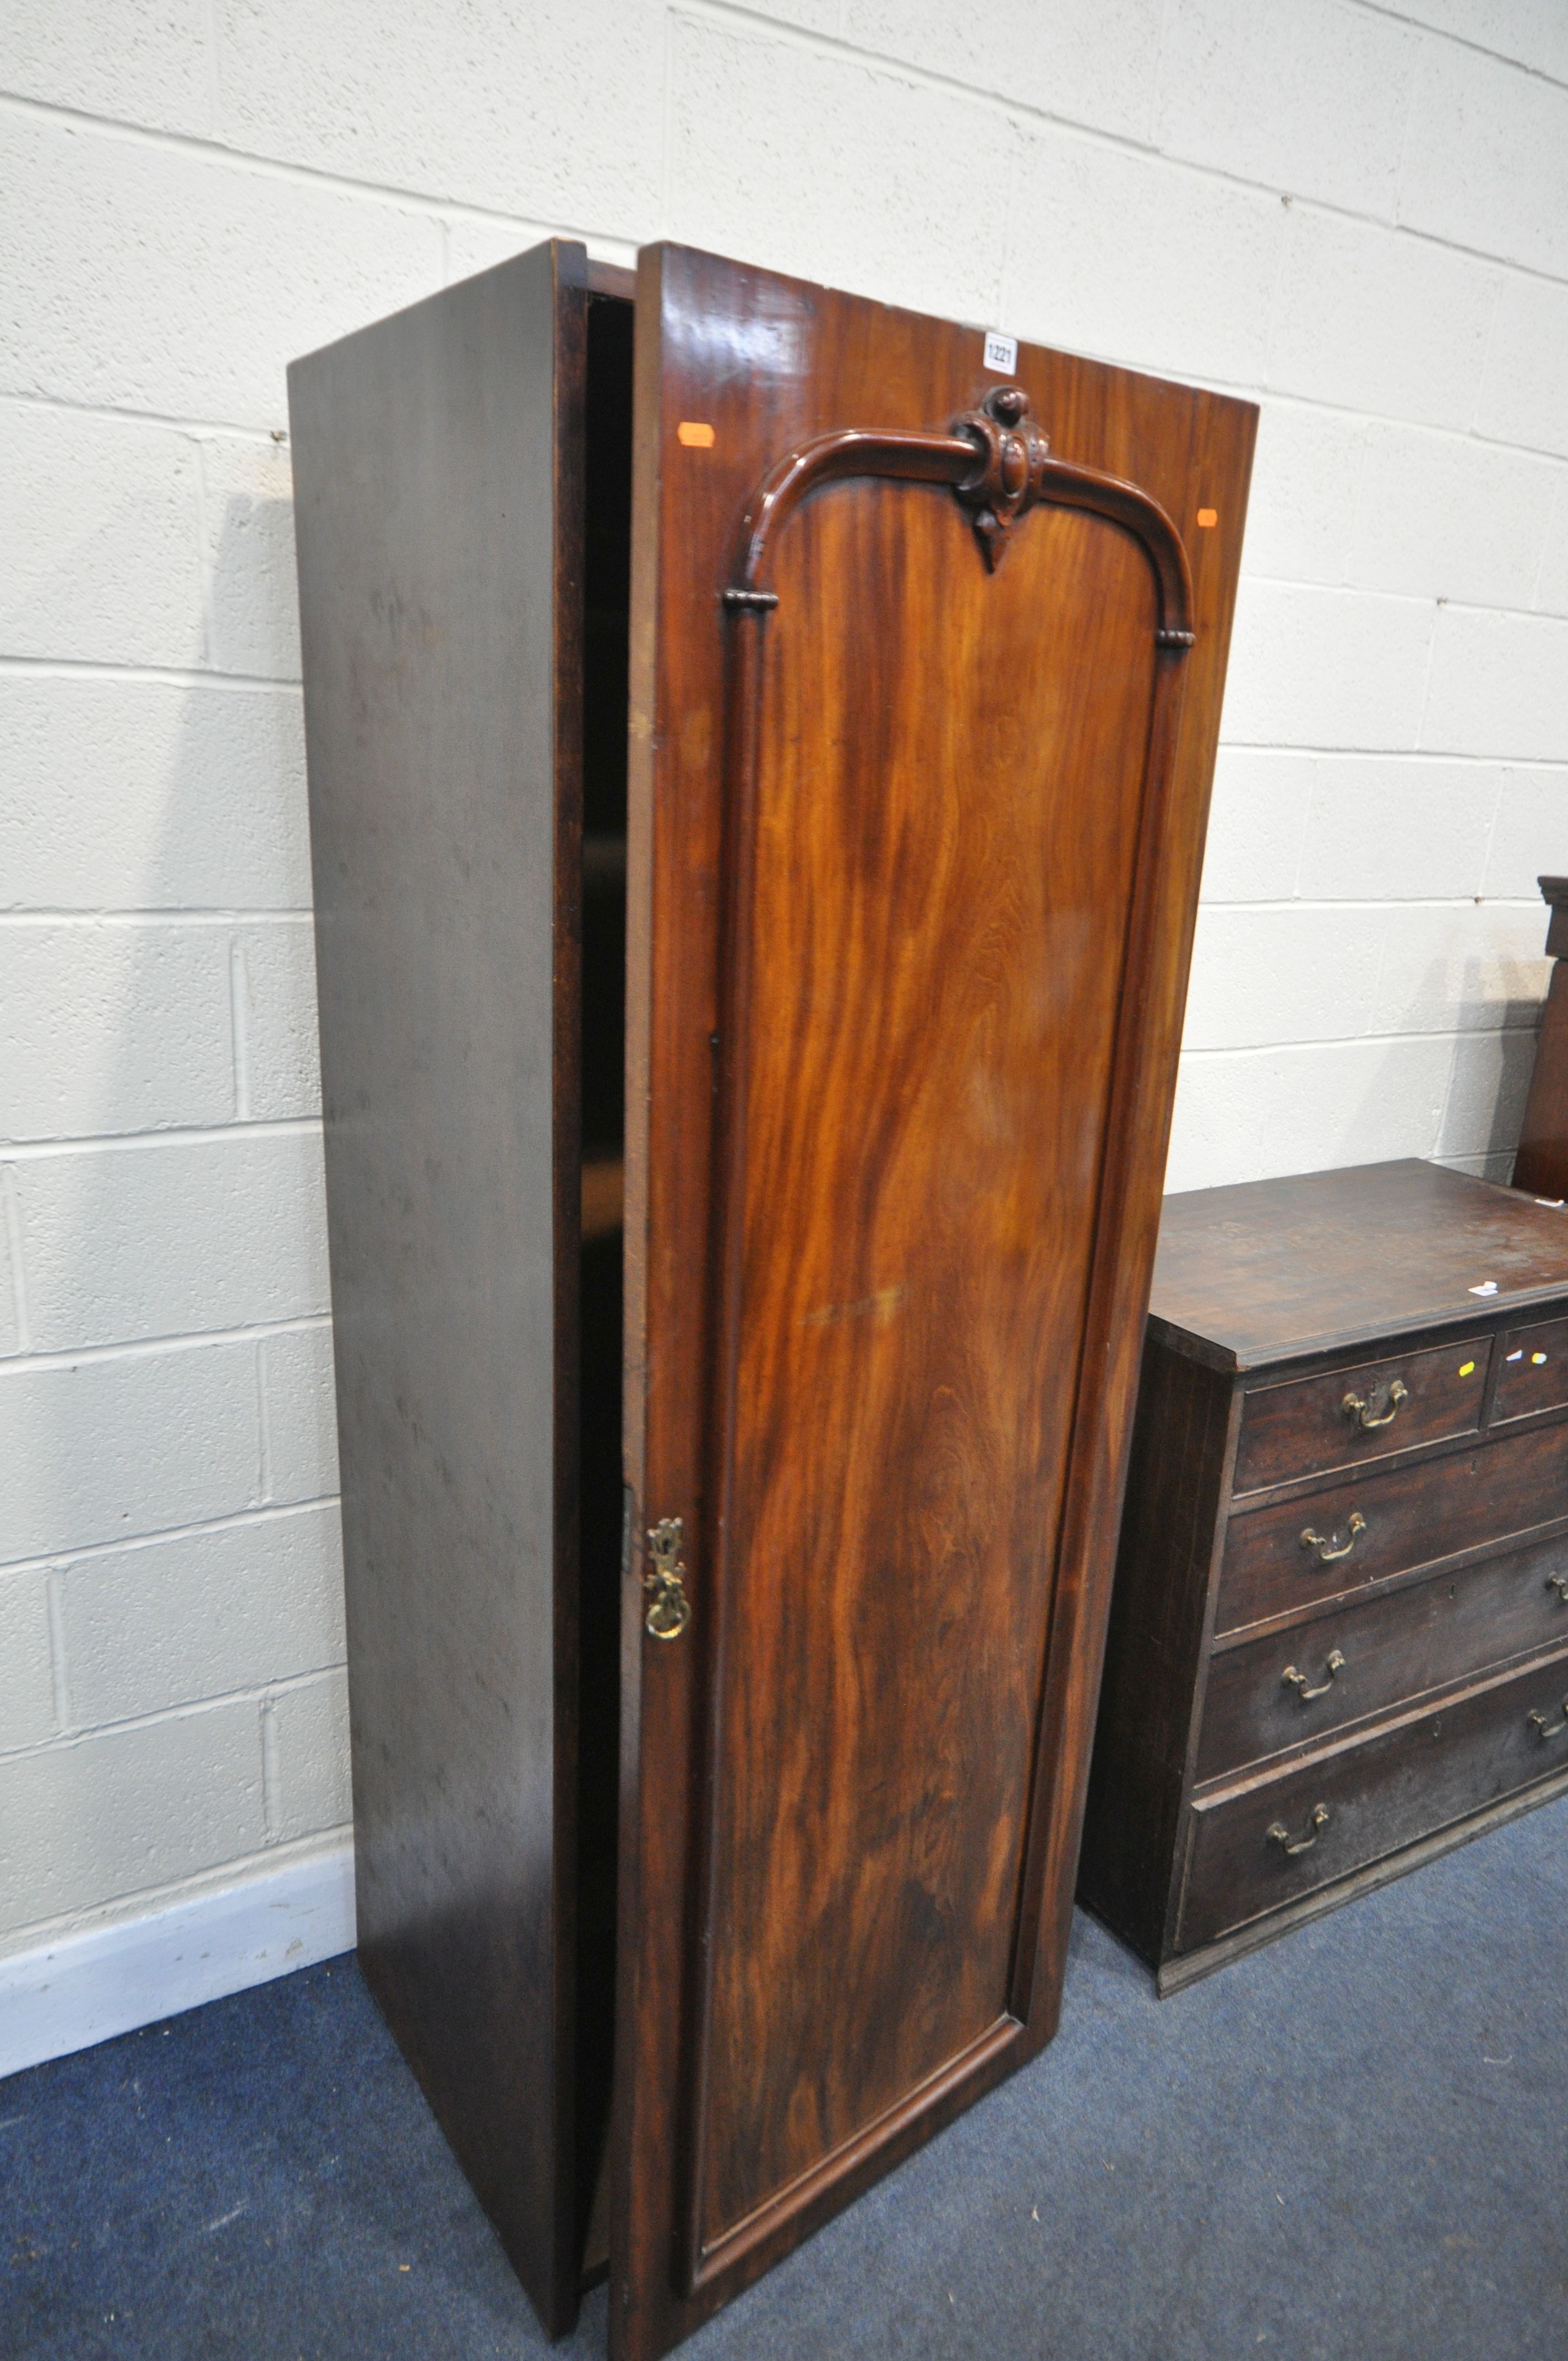
<svg viewBox="0 0 1568 2361"><path fill-rule="evenodd" d="M952 484L973 515L985 564L994 571L1008 536L1032 508L1082 508L1129 531L1143 548L1159 593L1155 645L1193 645L1193 574L1181 534L1159 501L1122 477L1051 458L1051 444L1030 416L1023 385L997 385L978 411L954 418L949 434L841 427L817 434L772 467L741 517L739 548L725 607L765 611L779 604L763 581L770 545L784 519L822 484L845 477L893 477L907 484Z"/></svg>

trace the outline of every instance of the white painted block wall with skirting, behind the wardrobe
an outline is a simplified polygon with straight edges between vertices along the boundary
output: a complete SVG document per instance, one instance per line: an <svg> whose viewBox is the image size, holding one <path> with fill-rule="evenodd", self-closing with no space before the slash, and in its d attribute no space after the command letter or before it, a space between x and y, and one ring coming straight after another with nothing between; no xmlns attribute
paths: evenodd
<svg viewBox="0 0 1568 2361"><path fill-rule="evenodd" d="M1169 1180L1507 1173L1568 7L0 0L0 78L5 2066L352 1934L283 364L560 229L1259 397Z"/></svg>

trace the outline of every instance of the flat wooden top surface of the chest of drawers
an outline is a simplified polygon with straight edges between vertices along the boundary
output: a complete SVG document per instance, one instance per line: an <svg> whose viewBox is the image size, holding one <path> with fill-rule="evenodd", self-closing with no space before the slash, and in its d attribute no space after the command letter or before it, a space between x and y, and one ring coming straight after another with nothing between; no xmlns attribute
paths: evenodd
<svg viewBox="0 0 1568 2361"><path fill-rule="evenodd" d="M1405 1157L1167 1197L1150 1327L1219 1369L1568 1294L1568 1206Z"/></svg>

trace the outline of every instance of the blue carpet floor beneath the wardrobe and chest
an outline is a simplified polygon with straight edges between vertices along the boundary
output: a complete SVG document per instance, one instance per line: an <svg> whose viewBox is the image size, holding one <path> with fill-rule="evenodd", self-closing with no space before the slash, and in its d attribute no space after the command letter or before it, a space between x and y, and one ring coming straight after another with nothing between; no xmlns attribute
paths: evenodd
<svg viewBox="0 0 1568 2361"><path fill-rule="evenodd" d="M1056 2045L685 2352L1563 2361L1566 1839L1167 2002L1079 1917ZM352 1957L0 2082L5 2361L543 2352Z"/></svg>

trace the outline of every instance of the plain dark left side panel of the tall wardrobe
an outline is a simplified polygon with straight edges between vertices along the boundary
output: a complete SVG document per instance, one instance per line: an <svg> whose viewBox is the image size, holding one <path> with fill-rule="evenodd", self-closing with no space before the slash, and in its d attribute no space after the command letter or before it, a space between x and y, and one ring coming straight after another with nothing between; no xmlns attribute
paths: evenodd
<svg viewBox="0 0 1568 2361"><path fill-rule="evenodd" d="M576 2314L586 255L298 361L359 1960Z"/></svg>

